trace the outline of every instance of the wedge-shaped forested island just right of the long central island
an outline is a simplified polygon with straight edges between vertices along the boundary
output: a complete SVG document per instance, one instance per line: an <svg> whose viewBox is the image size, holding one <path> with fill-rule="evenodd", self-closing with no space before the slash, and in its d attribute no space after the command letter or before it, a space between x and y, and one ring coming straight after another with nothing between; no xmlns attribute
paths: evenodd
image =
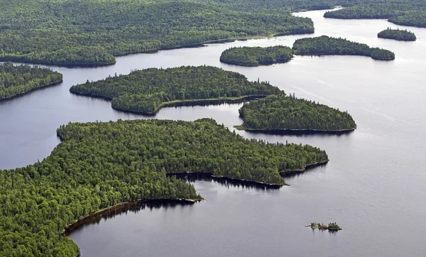
<svg viewBox="0 0 426 257"><path fill-rule="evenodd" d="M290 95L271 95L251 101L239 109L244 130L310 130L346 131L356 128L354 119L346 111L324 104L297 99Z"/></svg>

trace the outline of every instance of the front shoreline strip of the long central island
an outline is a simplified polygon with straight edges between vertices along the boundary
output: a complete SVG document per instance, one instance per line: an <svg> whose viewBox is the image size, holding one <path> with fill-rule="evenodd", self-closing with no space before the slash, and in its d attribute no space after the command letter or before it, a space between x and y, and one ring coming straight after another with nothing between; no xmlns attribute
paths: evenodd
<svg viewBox="0 0 426 257"><path fill-rule="evenodd" d="M76 94L76 95L80 95L83 97L93 97L93 98L98 98L98 99L104 99L107 100L109 102L112 101L112 98L109 97L104 97L104 96L99 96L97 94L92 94L92 93L80 93L80 92L75 92L75 91L71 91L70 93L72 94ZM192 100L175 100L175 101L179 101L179 102L165 102L164 104L161 104L160 106L158 106L158 109L155 109L155 111L153 112L141 112L141 111L132 111L132 110L127 110L127 109L120 109L116 106L112 106L111 104L111 108L116 110L116 111L124 111L130 114L140 114L143 116L155 116L156 114L158 114L158 112L165 108L165 107L179 107L179 106L208 106L208 105L219 105L219 104L240 104L243 102L248 102L254 99L261 99L261 98L265 98L267 97L266 94L253 94L253 95L248 95L248 96L243 96L243 97L228 97L228 98L212 98L212 99L192 99Z"/></svg>

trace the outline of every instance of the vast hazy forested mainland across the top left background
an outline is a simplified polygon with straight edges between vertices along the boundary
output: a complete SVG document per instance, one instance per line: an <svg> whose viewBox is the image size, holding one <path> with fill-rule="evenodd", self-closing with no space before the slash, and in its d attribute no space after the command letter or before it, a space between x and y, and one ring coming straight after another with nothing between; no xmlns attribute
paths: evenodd
<svg viewBox="0 0 426 257"><path fill-rule="evenodd" d="M257 35L313 33L300 1L111 0L0 3L0 61L65 66L115 63L114 56Z"/></svg>

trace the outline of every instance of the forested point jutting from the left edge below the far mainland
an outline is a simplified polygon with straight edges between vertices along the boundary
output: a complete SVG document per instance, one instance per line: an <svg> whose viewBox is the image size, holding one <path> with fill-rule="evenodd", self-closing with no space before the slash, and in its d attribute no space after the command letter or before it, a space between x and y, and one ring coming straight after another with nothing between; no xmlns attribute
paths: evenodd
<svg viewBox="0 0 426 257"><path fill-rule="evenodd" d="M43 67L0 64L0 100L24 94L32 89L62 82L62 74Z"/></svg>

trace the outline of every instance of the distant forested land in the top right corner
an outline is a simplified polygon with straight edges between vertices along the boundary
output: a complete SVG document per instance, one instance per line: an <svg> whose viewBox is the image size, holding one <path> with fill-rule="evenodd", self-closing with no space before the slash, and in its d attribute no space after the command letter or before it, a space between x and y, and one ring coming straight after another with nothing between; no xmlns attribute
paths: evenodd
<svg viewBox="0 0 426 257"><path fill-rule="evenodd" d="M359 19L386 18L389 22L404 26L426 28L426 1L422 0L359 0L338 1L344 9L327 11L325 18Z"/></svg>

